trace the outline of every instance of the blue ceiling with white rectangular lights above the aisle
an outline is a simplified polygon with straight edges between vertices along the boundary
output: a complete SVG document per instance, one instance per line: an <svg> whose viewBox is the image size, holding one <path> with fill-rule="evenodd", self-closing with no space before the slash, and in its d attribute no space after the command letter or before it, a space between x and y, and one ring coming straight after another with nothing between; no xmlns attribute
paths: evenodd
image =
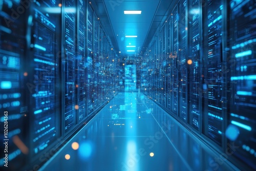
<svg viewBox="0 0 256 171"><path fill-rule="evenodd" d="M143 53L157 33L173 1L170 0L96 0L92 6L119 56ZM141 10L141 14L124 14L124 10ZM137 37L125 37L137 35ZM126 47L136 46L136 47ZM135 50L135 52L127 52ZM119 53L119 51L121 53Z"/></svg>

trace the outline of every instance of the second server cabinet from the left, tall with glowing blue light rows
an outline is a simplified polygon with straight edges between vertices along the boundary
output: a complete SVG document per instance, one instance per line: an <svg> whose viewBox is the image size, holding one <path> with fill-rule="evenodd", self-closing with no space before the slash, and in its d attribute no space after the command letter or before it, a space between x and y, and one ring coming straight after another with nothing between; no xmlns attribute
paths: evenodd
<svg viewBox="0 0 256 171"><path fill-rule="evenodd" d="M59 50L58 29L60 14L51 13L55 7L52 1L37 1L31 7L32 19L28 76L34 85L29 94L30 155L31 161L39 157L44 149L49 149L60 136L59 99ZM33 77L32 77L33 75ZM71 113L69 114L71 115Z"/></svg>

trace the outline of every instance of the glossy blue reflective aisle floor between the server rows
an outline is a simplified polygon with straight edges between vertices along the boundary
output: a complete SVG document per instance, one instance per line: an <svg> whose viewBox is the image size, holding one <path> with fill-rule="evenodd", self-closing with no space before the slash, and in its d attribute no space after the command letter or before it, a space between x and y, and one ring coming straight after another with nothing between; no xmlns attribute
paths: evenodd
<svg viewBox="0 0 256 171"><path fill-rule="evenodd" d="M236 170L154 102L119 93L40 170Z"/></svg>

